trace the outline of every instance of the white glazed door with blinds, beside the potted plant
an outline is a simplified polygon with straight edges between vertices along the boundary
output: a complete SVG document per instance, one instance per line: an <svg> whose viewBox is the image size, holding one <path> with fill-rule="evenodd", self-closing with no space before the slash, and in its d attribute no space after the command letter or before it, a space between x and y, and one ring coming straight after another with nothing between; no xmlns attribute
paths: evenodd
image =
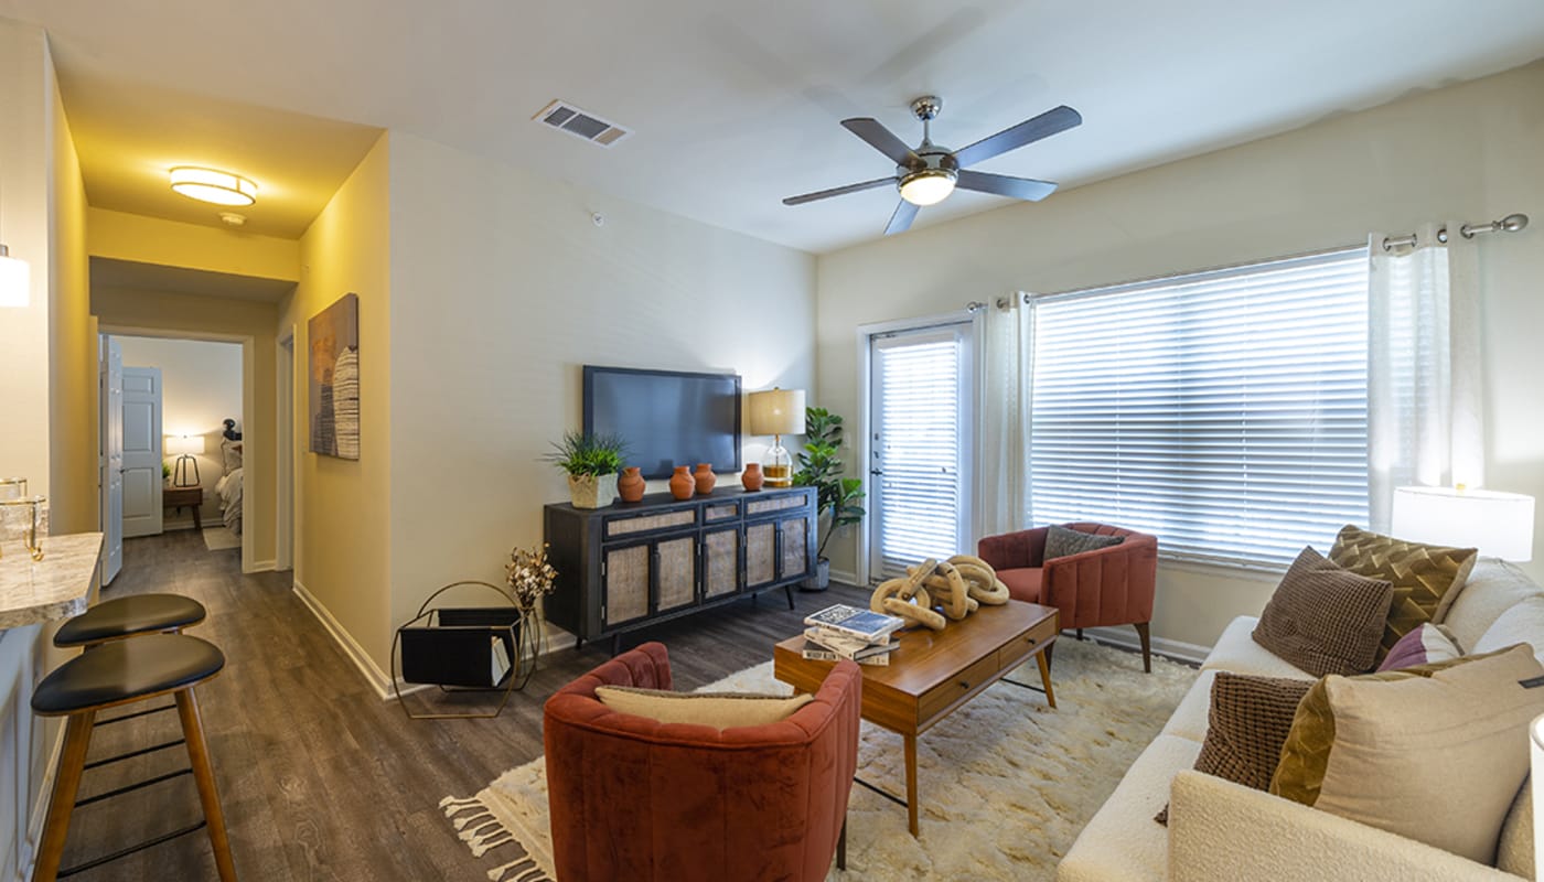
<svg viewBox="0 0 1544 882"><path fill-rule="evenodd" d="M869 338L869 579L970 548L968 323Z"/></svg>

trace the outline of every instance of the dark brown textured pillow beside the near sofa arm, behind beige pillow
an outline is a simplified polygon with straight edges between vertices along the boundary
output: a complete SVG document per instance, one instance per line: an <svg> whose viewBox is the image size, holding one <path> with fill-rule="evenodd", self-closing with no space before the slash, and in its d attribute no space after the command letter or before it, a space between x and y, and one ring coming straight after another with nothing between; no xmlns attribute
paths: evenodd
<svg viewBox="0 0 1544 882"><path fill-rule="evenodd" d="M1218 670L1212 681L1206 741L1195 771L1257 791L1269 789L1282 760L1282 745L1292 731L1297 703L1312 680L1283 680ZM1169 806L1153 819L1169 823Z"/></svg>

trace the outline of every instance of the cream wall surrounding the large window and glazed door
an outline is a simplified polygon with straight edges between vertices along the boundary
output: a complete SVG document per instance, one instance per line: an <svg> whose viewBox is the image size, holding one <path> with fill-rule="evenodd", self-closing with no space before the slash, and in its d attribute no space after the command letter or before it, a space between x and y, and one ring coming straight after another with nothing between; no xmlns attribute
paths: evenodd
<svg viewBox="0 0 1544 882"><path fill-rule="evenodd" d="M1098 125L1098 120L1089 120ZM1481 243L1488 487L1544 499L1544 63L1337 116L818 261L820 400L855 414L862 323L1366 241L1422 221L1529 212ZM919 256L920 255L920 256ZM980 491L994 483L982 476ZM1544 517L1539 519L1544 533ZM1325 538L1328 544L1331 536ZM1544 539L1535 539L1544 556ZM854 545L832 542L835 568ZM1544 576L1544 564L1530 567ZM1274 579L1161 565L1155 636L1209 646Z"/></svg>

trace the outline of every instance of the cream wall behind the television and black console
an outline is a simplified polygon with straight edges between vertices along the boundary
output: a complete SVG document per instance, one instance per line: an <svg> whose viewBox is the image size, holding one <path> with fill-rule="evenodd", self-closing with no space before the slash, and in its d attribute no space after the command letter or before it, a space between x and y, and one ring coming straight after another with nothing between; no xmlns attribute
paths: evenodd
<svg viewBox="0 0 1544 882"><path fill-rule="evenodd" d="M581 365L814 382L808 253L401 133L391 178L395 622L542 541L568 491L539 457L581 426Z"/></svg>

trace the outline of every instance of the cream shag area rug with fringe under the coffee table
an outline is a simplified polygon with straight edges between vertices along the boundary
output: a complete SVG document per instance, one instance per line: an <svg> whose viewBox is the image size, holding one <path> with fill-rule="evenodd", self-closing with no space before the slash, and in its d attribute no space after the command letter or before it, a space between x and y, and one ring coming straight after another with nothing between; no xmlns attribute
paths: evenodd
<svg viewBox="0 0 1544 882"><path fill-rule="evenodd" d="M1041 681L1033 661L1010 677ZM848 870L832 868L829 879L1051 879L1195 677L1158 656L1153 672L1143 673L1139 655L1058 639L1055 711L1039 692L996 683L917 738L917 839L906 831L905 808L854 785ZM723 690L791 692L772 678L770 661L699 689ZM858 777L903 797L900 735L863 723ZM446 797L440 808L474 856L497 862L488 871L493 882L553 876L545 757L471 799Z"/></svg>

